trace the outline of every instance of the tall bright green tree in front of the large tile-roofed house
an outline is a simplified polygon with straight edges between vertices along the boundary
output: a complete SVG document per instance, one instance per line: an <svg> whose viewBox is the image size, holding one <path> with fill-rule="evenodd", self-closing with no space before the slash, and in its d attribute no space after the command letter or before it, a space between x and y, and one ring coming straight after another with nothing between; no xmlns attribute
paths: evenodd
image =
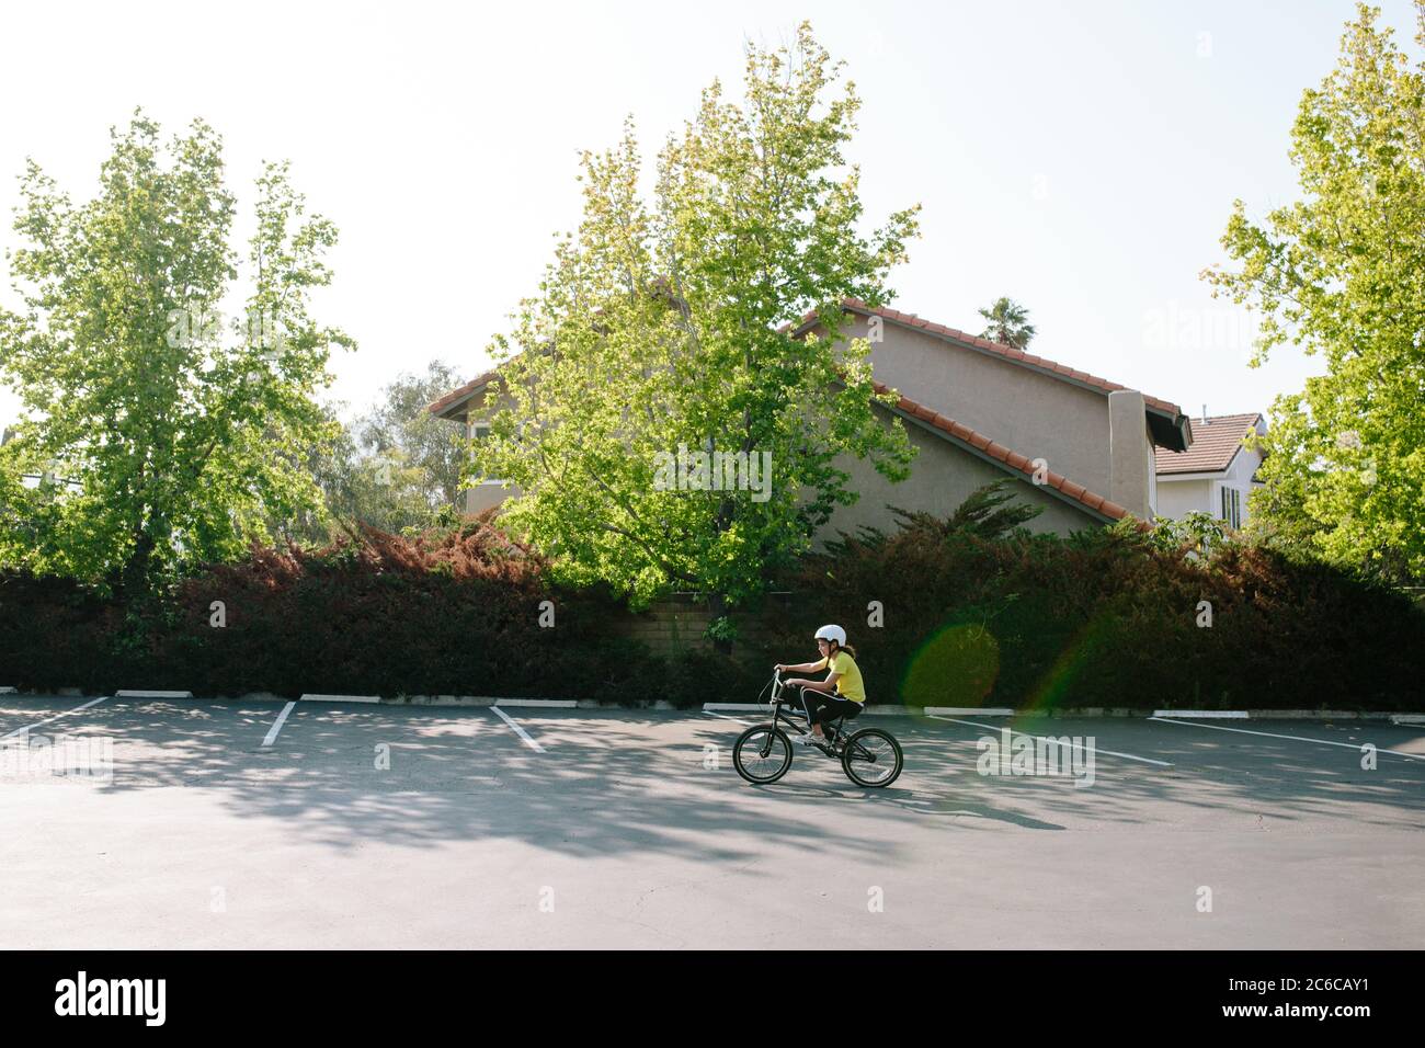
<svg viewBox="0 0 1425 1048"><path fill-rule="evenodd" d="M631 121L581 161L584 212L539 294L492 346L504 406L475 472L520 488L503 522L571 580L636 602L668 586L740 602L855 493L839 455L908 472L899 421L874 413L864 341L841 301L889 301L915 211L859 231L842 145L859 101L802 24L748 47L741 106L714 83L658 154L651 200ZM797 338L811 309L828 338Z"/></svg>

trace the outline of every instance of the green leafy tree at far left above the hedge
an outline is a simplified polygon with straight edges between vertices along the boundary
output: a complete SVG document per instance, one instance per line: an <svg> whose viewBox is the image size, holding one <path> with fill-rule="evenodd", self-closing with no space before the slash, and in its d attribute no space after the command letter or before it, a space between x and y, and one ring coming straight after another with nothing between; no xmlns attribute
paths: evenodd
<svg viewBox="0 0 1425 1048"><path fill-rule="evenodd" d="M336 228L305 214L285 164L256 180L247 315L228 324L221 138L194 121L165 153L137 113L111 140L87 202L34 161L21 177L0 378L26 418L0 449L0 560L144 592L318 505L301 459L332 431L314 394L352 344L309 315Z"/></svg>

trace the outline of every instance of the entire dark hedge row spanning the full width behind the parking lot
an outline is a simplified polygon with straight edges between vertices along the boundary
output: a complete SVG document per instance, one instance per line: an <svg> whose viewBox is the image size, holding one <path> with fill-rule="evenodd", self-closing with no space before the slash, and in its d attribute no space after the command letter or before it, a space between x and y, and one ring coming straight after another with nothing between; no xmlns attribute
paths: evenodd
<svg viewBox="0 0 1425 1048"><path fill-rule="evenodd" d="M1425 690L1425 615L1409 600L1245 543L1194 558L1120 530L986 538L921 518L809 556L779 585L795 597L741 612L731 656L667 662L621 635L613 595L553 585L489 522L255 549L142 605L7 575L0 683L693 706L752 700L771 663L814 657L815 627L839 622L872 702L1404 710Z"/></svg>

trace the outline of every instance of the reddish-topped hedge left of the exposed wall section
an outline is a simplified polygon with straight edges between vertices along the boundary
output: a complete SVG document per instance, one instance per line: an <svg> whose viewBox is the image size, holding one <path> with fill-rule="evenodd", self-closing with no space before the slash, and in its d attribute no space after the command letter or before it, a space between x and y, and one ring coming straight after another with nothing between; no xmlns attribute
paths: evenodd
<svg viewBox="0 0 1425 1048"><path fill-rule="evenodd" d="M544 600L553 627L540 626ZM0 577L0 680L613 700L658 679L647 649L613 632L616 610L606 595L550 586L539 558L487 525L429 540L368 532L316 552L254 549L142 606Z"/></svg>

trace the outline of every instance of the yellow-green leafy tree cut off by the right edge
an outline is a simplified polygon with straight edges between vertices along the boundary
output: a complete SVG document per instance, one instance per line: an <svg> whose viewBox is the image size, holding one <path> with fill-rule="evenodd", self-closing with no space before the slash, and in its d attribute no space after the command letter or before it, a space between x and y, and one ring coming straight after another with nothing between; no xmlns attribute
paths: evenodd
<svg viewBox="0 0 1425 1048"><path fill-rule="evenodd" d="M1251 529L1404 580L1425 575L1425 64L1378 19L1361 6L1302 94L1301 200L1263 224L1237 201L1223 245L1241 268L1203 275L1260 312L1254 366L1288 341L1327 362L1273 406Z"/></svg>

